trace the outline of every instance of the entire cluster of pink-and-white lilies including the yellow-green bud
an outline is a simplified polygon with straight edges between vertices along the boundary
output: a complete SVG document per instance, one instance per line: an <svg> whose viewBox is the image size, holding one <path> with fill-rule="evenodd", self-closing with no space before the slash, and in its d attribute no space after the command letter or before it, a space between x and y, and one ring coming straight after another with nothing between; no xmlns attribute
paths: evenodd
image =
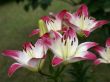
<svg viewBox="0 0 110 82"><path fill-rule="evenodd" d="M47 57L47 50L50 49L54 57L52 66L61 63L74 63L82 60L93 60L95 64L110 63L110 38L106 42L106 48L98 46L96 42L83 42L79 44L77 35L88 37L92 31L107 24L106 20L98 20L88 15L85 4L73 14L62 10L57 14L41 17L39 29L35 29L29 36L39 34L37 42L32 45L30 42L23 44L23 51L5 50L3 54L16 60L8 70L11 76L20 67L32 71L39 71ZM101 58L89 51L96 50Z"/></svg>

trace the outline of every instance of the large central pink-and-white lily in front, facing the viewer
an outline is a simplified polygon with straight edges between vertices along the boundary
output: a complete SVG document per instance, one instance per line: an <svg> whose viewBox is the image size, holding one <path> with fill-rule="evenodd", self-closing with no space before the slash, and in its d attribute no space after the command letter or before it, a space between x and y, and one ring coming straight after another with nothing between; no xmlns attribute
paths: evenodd
<svg viewBox="0 0 110 82"><path fill-rule="evenodd" d="M48 46L54 53L53 66L62 62L72 63L86 59L96 59L96 56L88 49L96 46L97 43L84 42L78 45L76 33L72 28L69 28L63 35L55 31L50 35L52 39L50 39L51 44Z"/></svg>

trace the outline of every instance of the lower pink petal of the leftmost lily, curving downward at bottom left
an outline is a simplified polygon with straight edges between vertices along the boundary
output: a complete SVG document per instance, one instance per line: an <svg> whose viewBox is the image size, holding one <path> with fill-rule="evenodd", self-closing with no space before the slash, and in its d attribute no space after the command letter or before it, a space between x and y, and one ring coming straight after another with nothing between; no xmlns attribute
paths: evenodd
<svg viewBox="0 0 110 82"><path fill-rule="evenodd" d="M21 67L22 67L22 65L19 64L19 63L14 63L14 64L12 64L12 65L10 66L10 68L8 69L8 76L11 77L11 76L13 75L13 73L14 73L17 69L19 69L19 68L21 68Z"/></svg>

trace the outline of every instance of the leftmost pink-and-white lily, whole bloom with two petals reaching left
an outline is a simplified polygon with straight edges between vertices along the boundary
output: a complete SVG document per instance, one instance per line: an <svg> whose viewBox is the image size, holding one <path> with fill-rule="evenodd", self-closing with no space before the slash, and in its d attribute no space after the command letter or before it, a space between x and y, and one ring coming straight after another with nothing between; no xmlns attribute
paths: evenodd
<svg viewBox="0 0 110 82"><path fill-rule="evenodd" d="M31 71L39 71L43 65L47 49L41 39L39 39L34 46L30 42L26 42L23 47L23 51L3 51L3 55L9 56L17 61L10 66L8 70L9 76L12 76L13 73L21 67L25 67Z"/></svg>

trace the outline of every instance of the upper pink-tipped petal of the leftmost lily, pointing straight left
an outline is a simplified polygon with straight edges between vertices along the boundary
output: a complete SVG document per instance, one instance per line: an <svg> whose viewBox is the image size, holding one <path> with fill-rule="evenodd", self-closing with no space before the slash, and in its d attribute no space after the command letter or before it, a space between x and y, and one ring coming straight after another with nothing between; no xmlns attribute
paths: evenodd
<svg viewBox="0 0 110 82"><path fill-rule="evenodd" d="M5 51L3 51L3 55L9 56L13 59L18 58L21 53L22 53L21 51L17 51L17 50L5 50Z"/></svg>

